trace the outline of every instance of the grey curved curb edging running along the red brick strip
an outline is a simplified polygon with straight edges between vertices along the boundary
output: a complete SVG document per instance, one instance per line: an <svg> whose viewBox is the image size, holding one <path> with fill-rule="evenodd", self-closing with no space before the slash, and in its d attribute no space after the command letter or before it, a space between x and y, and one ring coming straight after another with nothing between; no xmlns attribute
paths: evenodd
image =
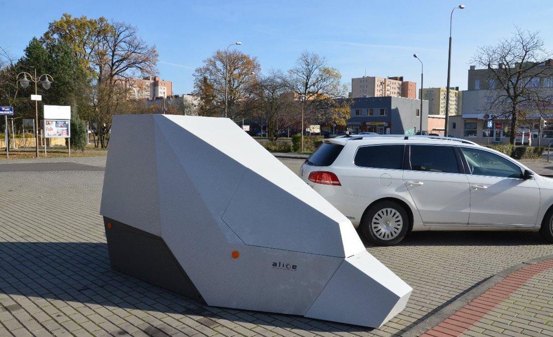
<svg viewBox="0 0 553 337"><path fill-rule="evenodd" d="M468 288L465 292L448 300L446 303L440 305L440 307L436 308L434 311L426 314L415 323L406 326L403 330L399 331L399 334L405 337L420 336L426 331L434 328L436 325L444 322L444 320L449 318L458 310L465 307L465 305L467 305L473 299L476 299L477 297L488 291L488 289L495 286L495 284L503 281L510 274L517 272L519 271L519 269L522 269L524 267L528 267L530 265L534 265L535 263L540 263L551 259L553 259L553 255L542 256L539 258L534 258L533 260L519 263L518 265L509 267L507 269L503 269L503 271L500 271L499 273L474 284L474 286Z"/></svg>

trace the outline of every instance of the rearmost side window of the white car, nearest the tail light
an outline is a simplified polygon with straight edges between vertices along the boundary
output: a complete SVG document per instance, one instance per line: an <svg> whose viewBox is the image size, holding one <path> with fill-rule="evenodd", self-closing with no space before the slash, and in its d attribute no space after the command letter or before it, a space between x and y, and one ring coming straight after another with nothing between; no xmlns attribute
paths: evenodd
<svg viewBox="0 0 553 337"><path fill-rule="evenodd" d="M362 146L357 149L354 164L361 167L397 169L403 167L403 144Z"/></svg>

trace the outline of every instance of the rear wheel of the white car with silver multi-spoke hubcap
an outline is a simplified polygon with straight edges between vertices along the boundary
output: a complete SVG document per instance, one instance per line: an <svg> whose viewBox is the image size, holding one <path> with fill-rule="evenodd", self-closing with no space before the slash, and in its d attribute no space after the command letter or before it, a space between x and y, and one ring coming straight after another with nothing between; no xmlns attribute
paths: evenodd
<svg viewBox="0 0 553 337"><path fill-rule="evenodd" d="M409 216L395 201L371 205L361 220L361 232L377 246L397 245L409 231Z"/></svg>

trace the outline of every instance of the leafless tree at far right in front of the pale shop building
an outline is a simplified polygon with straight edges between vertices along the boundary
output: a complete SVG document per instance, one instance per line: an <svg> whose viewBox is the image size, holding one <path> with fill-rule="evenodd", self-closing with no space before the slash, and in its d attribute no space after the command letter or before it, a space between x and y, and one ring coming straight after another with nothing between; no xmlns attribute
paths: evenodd
<svg viewBox="0 0 553 337"><path fill-rule="evenodd" d="M472 62L486 69L491 98L484 109L510 119L511 144L515 143L520 121L530 111L550 105L542 81L553 76L551 53L544 48L539 32L516 28L511 37L496 45L481 46ZM513 149L514 151L514 149Z"/></svg>

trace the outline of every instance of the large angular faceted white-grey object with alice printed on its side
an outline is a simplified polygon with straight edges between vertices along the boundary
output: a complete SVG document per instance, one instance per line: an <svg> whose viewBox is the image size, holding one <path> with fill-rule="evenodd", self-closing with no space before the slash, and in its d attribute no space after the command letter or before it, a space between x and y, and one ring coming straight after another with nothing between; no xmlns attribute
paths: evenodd
<svg viewBox="0 0 553 337"><path fill-rule="evenodd" d="M114 116L100 213L114 269L208 305L378 327L412 291L227 118Z"/></svg>

